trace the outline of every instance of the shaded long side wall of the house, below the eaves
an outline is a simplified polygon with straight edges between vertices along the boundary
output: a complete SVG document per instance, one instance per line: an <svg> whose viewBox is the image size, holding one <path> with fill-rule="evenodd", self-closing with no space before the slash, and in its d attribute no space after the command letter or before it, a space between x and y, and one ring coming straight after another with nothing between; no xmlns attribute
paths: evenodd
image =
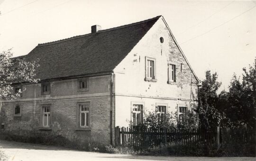
<svg viewBox="0 0 256 161"><path fill-rule="evenodd" d="M51 94L41 95L39 84L23 86L22 98L5 101L0 109L0 124L10 134L33 136L59 135L71 141L110 143L110 76L90 78L89 91L77 91L76 80L51 82ZM78 102L89 102L91 129L78 130ZM51 130L42 130L42 105L51 107ZM14 107L21 116L13 116ZM3 131L3 130L1 130Z"/></svg>

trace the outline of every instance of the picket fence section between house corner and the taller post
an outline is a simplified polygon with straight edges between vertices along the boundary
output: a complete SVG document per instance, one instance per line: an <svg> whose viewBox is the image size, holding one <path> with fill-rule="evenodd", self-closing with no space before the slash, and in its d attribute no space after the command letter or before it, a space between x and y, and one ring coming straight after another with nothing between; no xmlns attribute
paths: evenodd
<svg viewBox="0 0 256 161"><path fill-rule="evenodd" d="M187 129L187 130L174 130L174 129L133 129L129 127L116 127L116 144L123 146L150 146L159 144L180 144L190 145L203 140L208 143L215 143L217 141L216 132L203 132L201 129Z"/></svg>

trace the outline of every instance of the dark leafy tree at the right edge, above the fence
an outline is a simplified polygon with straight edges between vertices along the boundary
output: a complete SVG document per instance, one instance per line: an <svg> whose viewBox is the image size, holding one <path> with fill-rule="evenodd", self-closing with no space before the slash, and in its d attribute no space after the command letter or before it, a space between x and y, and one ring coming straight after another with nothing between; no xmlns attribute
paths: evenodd
<svg viewBox="0 0 256 161"><path fill-rule="evenodd" d="M242 82L236 74L230 81L229 91L219 94L218 108L227 116L226 124L229 126L249 125L254 127L256 116L256 68L243 68Z"/></svg>

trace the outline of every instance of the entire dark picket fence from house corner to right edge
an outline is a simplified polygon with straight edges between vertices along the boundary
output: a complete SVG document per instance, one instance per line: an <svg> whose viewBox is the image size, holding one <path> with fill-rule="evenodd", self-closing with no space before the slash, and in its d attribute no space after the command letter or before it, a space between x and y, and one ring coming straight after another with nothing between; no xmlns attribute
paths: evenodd
<svg viewBox="0 0 256 161"><path fill-rule="evenodd" d="M200 128L195 129L139 129L130 127L116 127L116 145L148 147L153 145L179 144L191 146L192 144L217 145L232 143L255 143L255 131L252 128L216 127L212 131Z"/></svg>

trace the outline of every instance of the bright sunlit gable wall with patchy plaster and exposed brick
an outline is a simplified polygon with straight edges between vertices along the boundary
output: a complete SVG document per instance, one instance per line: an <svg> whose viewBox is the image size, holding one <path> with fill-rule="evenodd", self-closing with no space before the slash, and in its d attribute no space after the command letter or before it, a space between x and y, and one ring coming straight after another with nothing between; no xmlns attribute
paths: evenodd
<svg viewBox="0 0 256 161"><path fill-rule="evenodd" d="M160 42L160 37L164 42ZM145 81L145 57L155 59L157 81ZM168 83L168 63L176 65L176 82ZM145 102L146 110L155 111L155 103L193 107L197 99L197 80L160 18L128 56L116 67L116 125L128 125L131 102ZM124 119L125 118L125 119Z"/></svg>

